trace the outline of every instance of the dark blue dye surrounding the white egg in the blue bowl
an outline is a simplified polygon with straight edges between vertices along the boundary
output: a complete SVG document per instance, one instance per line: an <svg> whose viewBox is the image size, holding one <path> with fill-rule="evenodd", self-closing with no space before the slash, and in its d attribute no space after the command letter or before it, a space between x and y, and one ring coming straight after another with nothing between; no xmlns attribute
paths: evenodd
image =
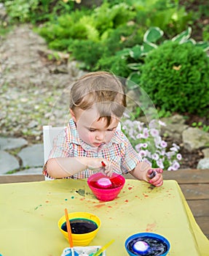
<svg viewBox="0 0 209 256"><path fill-rule="evenodd" d="M133 245L138 241L144 241L149 245L146 252L135 252L133 250ZM151 238L150 236L142 236L140 238L135 238L127 244L127 249L130 250L134 255L143 256L159 256L167 252L167 244L159 238Z"/></svg>

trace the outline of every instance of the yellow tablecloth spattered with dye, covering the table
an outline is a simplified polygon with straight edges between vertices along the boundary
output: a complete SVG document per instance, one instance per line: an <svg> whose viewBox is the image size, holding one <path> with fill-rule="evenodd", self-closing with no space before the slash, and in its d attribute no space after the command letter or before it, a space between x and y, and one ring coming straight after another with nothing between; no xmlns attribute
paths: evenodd
<svg viewBox="0 0 209 256"><path fill-rule="evenodd" d="M0 254L3 256L59 256L68 241L58 229L64 208L88 211L102 225L90 245L104 245L108 256L125 256L125 239L154 232L170 241L169 255L209 255L209 241L194 220L176 181L148 189L143 181L126 180L119 197L98 201L87 181L62 179L0 185Z"/></svg>

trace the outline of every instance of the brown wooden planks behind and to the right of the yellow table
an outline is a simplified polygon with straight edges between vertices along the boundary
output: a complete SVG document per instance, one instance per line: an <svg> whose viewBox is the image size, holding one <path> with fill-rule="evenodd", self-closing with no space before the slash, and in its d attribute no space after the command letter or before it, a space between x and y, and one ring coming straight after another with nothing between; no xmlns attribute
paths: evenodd
<svg viewBox="0 0 209 256"><path fill-rule="evenodd" d="M164 171L165 180L176 180L202 232L209 238L209 169ZM125 178L133 178L127 175ZM1 183L44 181L40 175L0 176Z"/></svg>

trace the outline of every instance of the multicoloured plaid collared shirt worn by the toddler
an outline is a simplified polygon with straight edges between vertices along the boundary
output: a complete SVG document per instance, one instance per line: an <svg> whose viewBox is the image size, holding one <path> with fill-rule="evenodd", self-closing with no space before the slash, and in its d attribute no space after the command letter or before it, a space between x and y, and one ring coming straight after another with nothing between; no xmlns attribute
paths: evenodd
<svg viewBox="0 0 209 256"><path fill-rule="evenodd" d="M73 119L70 119L66 129L63 129L53 142L49 159L56 157L105 158L112 163L114 173L119 174L130 172L138 162L141 162L141 158L121 130L117 129L114 132L114 136L109 143L96 148L79 138ZM94 170L86 169L74 176L66 178L88 178L93 173L95 173ZM47 173L46 164L44 165L43 174L44 176L50 177Z"/></svg>

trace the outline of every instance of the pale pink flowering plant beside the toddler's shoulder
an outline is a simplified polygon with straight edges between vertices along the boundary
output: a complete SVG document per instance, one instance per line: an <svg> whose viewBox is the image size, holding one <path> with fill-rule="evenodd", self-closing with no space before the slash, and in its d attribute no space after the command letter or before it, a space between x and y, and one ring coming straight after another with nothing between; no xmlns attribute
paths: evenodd
<svg viewBox="0 0 209 256"><path fill-rule="evenodd" d="M152 120L148 128L141 121L125 120L122 122L122 130L141 159L149 162L151 167L178 170L182 158L180 147L173 143L172 147L167 148L167 142L162 140L157 129L160 125L165 126L165 123Z"/></svg>

